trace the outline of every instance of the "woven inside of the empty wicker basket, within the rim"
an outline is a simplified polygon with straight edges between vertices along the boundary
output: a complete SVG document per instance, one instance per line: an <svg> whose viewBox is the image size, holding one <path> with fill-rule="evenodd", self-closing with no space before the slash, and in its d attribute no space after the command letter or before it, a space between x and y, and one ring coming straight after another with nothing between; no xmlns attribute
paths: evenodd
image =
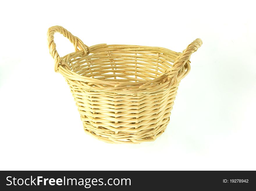
<svg viewBox="0 0 256 191"><path fill-rule="evenodd" d="M160 47L104 44L91 47L87 56L71 53L67 63L72 72L81 76L109 82L146 83L172 67L179 55Z"/></svg>

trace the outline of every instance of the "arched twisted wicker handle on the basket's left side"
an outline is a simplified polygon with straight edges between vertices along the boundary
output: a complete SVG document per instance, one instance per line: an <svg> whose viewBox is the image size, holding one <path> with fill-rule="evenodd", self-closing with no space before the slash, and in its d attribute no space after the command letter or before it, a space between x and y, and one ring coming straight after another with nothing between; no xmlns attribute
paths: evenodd
<svg viewBox="0 0 256 191"><path fill-rule="evenodd" d="M85 55L88 55L90 53L90 48L83 44L83 42L79 38L77 38L76 36L72 35L69 31L67 31L67 29L63 28L62 26L50 27L47 32L47 42L50 54L55 62L55 72L58 69L59 63L61 63L61 57L59 56L56 50L56 44L54 43L54 34L56 32L61 33L63 34L63 36L67 37L68 40L74 44L75 51L83 50Z"/></svg>

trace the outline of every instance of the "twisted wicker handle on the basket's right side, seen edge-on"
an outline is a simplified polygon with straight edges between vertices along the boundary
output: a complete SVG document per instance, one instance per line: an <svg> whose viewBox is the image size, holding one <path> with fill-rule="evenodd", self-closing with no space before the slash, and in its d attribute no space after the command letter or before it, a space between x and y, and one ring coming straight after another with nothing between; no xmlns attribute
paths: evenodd
<svg viewBox="0 0 256 191"><path fill-rule="evenodd" d="M173 67L168 68L163 73L163 76L168 76L169 78L176 76L179 70L190 59L191 54L197 51L197 49L202 45L202 43L202 40L200 38L197 38L191 44L189 44L187 48L183 51L182 55L175 60L175 62L173 63Z"/></svg>

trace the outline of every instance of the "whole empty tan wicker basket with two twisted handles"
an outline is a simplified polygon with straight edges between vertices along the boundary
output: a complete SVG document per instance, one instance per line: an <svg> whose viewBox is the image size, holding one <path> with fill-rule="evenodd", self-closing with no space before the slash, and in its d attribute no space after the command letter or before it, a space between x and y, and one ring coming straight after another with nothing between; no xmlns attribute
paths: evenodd
<svg viewBox="0 0 256 191"><path fill-rule="evenodd" d="M58 55L56 32L75 52ZM47 37L55 71L70 86L84 131L108 143L154 141L165 131L190 56L202 45L196 39L183 53L135 45L88 47L61 26L49 28Z"/></svg>

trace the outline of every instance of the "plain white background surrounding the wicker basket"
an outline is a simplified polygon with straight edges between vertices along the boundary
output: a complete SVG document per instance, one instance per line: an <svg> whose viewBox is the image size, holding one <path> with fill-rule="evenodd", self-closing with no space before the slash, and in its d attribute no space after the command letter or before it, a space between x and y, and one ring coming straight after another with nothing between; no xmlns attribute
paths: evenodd
<svg viewBox="0 0 256 191"><path fill-rule="evenodd" d="M1 170L256 170L253 1L3 1ZM180 52L201 38L170 124L154 142L107 144L83 131L47 46L67 28L86 45L137 44ZM55 35L58 53L73 45Z"/></svg>

